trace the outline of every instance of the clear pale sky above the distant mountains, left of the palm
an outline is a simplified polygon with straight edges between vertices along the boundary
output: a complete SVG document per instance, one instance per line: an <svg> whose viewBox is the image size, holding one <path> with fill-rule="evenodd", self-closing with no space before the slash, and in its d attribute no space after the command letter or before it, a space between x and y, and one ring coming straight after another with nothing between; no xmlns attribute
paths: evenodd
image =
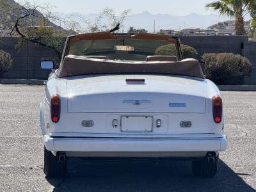
<svg viewBox="0 0 256 192"><path fill-rule="evenodd" d="M15 0L18 3L23 0ZM49 3L55 7L56 12L63 13L99 13L103 8L109 7L116 12L131 9L132 13L140 13L145 10L151 13L168 13L170 15L188 15L189 13L210 14L205 10L205 4L214 0L28 0L36 4Z"/></svg>

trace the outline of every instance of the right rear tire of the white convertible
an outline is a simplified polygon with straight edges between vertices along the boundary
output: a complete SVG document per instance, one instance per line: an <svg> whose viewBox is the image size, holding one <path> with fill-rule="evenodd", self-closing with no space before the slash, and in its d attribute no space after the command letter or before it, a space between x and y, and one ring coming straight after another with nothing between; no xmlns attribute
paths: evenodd
<svg viewBox="0 0 256 192"><path fill-rule="evenodd" d="M219 156L213 156L214 163L208 163L207 157L201 161L192 162L192 171L195 177L212 178L218 171Z"/></svg>

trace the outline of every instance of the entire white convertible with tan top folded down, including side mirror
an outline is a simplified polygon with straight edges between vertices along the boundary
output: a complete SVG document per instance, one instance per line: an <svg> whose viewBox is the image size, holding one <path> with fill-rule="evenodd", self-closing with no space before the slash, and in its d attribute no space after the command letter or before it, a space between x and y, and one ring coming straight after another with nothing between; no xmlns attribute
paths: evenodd
<svg viewBox="0 0 256 192"><path fill-rule="evenodd" d="M195 176L214 177L227 148L220 91L167 35L68 36L40 123L49 177L65 175L69 157L188 159Z"/></svg>

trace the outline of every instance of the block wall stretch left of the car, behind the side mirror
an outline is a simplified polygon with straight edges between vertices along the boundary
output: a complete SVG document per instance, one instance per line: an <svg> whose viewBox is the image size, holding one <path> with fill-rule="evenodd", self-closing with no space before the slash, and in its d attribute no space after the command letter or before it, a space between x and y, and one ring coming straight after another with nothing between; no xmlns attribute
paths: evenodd
<svg viewBox="0 0 256 192"><path fill-rule="evenodd" d="M0 49L10 52L13 58L12 67L3 74L3 78L10 79L47 79L51 70L41 70L41 60L53 60L56 53L46 47L25 42L20 50L15 47L18 38L1 38Z"/></svg>

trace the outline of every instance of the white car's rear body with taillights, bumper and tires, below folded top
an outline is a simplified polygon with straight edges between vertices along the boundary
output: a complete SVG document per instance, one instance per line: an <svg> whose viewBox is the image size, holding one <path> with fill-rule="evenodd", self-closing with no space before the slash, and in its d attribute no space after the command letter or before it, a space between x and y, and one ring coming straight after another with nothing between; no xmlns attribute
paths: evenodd
<svg viewBox="0 0 256 192"><path fill-rule="evenodd" d="M52 74L40 121L50 177L68 157L188 159L196 176L214 177L227 148L220 91L200 77Z"/></svg>

